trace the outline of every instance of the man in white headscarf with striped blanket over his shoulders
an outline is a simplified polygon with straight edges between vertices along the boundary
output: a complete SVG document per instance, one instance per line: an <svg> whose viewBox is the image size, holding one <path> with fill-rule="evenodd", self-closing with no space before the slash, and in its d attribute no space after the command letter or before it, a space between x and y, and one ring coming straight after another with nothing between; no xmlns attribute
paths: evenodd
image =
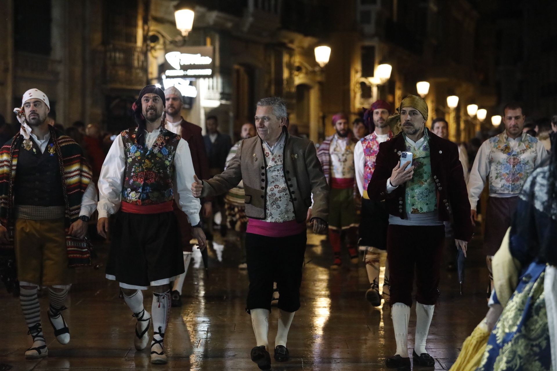
<svg viewBox="0 0 557 371"><path fill-rule="evenodd" d="M36 359L48 354L38 286L48 286L47 314L56 339L70 341L61 311L74 281L70 268L90 264L84 238L96 190L81 147L48 126L45 93L28 90L14 112L21 130L0 150L0 244L14 251L19 300L33 338L25 358Z"/></svg>

